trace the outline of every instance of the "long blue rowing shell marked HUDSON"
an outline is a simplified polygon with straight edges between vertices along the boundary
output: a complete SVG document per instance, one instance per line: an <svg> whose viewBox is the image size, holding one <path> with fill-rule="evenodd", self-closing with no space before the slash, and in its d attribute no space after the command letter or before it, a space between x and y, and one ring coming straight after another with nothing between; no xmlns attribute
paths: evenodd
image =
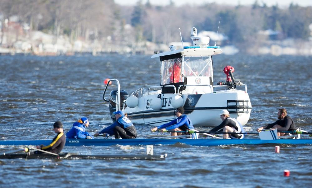
<svg viewBox="0 0 312 188"><path fill-rule="evenodd" d="M7 140L0 145L49 145L52 140ZM184 143L193 146L219 146L232 144L312 144L312 139L66 139L66 146L111 146L111 145L172 145Z"/></svg>

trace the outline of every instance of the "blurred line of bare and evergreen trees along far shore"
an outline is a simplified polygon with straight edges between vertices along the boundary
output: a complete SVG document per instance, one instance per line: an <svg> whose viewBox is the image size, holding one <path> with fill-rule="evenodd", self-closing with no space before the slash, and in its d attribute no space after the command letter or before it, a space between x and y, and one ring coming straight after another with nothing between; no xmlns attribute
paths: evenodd
<svg viewBox="0 0 312 188"><path fill-rule="evenodd" d="M179 41L178 28L183 40L190 41L190 30L217 31L228 36L228 43L246 45L255 42L260 30L274 30L282 38L306 40L311 31L312 7L291 3L288 8L266 6L255 1L250 6L230 6L207 3L198 6L154 6L139 1L134 6L121 6L113 0L1 0L3 18L19 16L32 30L54 35L68 35L72 40L84 38L125 40L125 26L136 42L148 40L168 44ZM3 21L3 20L2 20Z"/></svg>

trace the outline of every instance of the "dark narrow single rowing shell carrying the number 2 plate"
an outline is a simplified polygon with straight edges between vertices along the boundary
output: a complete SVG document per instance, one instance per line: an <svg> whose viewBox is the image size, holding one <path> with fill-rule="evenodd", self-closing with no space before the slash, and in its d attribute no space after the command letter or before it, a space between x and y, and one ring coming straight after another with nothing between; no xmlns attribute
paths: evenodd
<svg viewBox="0 0 312 188"><path fill-rule="evenodd" d="M165 160L167 154L164 155L79 155L73 153L63 153L58 156L49 154L28 154L14 153L8 155L0 155L0 159L133 159L133 160Z"/></svg>

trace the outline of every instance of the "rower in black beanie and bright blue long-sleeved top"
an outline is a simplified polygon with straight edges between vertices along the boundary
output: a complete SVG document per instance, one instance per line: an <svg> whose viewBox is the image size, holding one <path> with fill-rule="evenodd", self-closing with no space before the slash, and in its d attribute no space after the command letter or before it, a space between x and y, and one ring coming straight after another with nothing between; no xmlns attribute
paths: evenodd
<svg viewBox="0 0 312 188"><path fill-rule="evenodd" d="M184 114L184 108L183 107L178 107L176 110L174 110L175 115L178 117L177 119L174 119L170 121L169 123L160 125L158 127L154 127L151 129L152 132L155 132L159 129L159 132L163 132L165 130L174 130L174 131L186 131L186 133L189 130L195 130L193 127L193 123L190 120L190 118ZM171 133L171 136L178 136L182 135L182 133L176 133L173 132ZM197 139L198 134L192 134L193 139Z"/></svg>

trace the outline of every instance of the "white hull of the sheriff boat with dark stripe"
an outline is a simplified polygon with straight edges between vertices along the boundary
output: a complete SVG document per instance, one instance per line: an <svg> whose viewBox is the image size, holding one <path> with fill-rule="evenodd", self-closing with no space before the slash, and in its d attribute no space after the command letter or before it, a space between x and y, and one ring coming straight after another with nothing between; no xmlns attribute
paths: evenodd
<svg viewBox="0 0 312 188"><path fill-rule="evenodd" d="M139 97L139 104L135 108L125 108L128 118L134 123L162 125L174 120L175 114L171 100L177 94L161 94L162 108L153 110L150 101L159 94L150 94ZM236 118L242 125L249 120L251 103L246 92L241 90L222 90L207 94L182 94L185 114L190 117L194 126L217 126L222 120L220 111L229 110L230 117ZM248 102L231 102L233 100L244 100ZM229 102L230 101L230 102ZM245 107L245 108L244 108ZM237 108L237 109L236 109Z"/></svg>

